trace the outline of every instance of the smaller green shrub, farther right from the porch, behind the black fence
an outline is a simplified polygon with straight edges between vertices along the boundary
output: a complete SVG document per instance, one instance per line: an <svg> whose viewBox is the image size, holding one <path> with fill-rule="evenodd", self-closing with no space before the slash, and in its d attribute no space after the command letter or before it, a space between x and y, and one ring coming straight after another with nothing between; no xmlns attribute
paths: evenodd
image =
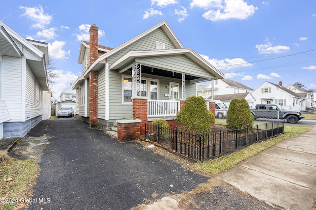
<svg viewBox="0 0 316 210"><path fill-rule="evenodd" d="M253 124L253 115L250 112L248 102L244 98L233 99L227 111L228 129L241 128Z"/></svg>

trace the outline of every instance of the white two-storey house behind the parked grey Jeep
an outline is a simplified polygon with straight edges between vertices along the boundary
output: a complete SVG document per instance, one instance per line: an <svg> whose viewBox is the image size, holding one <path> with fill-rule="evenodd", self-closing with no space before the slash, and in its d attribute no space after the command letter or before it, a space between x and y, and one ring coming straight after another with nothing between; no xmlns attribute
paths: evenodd
<svg viewBox="0 0 316 210"><path fill-rule="evenodd" d="M252 92L256 99L256 104L278 104L285 109L305 110L306 94L293 92L282 86L282 81L278 85L264 82Z"/></svg>

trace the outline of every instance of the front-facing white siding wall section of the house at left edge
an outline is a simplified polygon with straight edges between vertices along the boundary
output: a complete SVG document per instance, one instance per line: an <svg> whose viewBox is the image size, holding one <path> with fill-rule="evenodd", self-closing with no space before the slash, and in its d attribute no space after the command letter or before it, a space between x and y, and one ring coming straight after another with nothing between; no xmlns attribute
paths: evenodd
<svg viewBox="0 0 316 210"><path fill-rule="evenodd" d="M3 57L3 91L5 101L11 116L9 121L21 121L22 114L22 60L13 57Z"/></svg>

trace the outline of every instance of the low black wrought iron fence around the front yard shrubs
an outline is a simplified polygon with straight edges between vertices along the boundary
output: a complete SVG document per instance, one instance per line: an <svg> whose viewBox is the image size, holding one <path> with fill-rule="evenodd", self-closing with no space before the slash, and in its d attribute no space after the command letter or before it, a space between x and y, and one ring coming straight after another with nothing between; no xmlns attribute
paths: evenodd
<svg viewBox="0 0 316 210"><path fill-rule="evenodd" d="M234 130L197 135L177 129L145 125L146 140L192 161L218 157L284 132L284 122L266 122Z"/></svg>

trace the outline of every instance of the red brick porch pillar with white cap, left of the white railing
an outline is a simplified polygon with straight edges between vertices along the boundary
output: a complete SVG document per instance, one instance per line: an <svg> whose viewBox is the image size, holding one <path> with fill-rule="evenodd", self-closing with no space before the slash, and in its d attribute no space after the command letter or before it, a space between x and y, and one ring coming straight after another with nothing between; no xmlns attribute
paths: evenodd
<svg viewBox="0 0 316 210"><path fill-rule="evenodd" d="M133 100L133 119L142 120L140 122L140 135L145 135L145 123L148 121L147 100L148 97L134 96Z"/></svg>

